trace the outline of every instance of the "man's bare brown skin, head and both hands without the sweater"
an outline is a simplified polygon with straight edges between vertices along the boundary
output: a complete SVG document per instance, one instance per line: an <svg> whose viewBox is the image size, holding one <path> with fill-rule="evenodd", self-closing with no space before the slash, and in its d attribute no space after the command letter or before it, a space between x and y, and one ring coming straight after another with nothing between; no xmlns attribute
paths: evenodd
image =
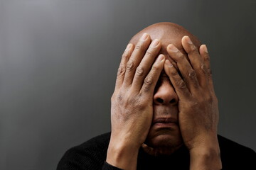
<svg viewBox="0 0 256 170"><path fill-rule="evenodd" d="M159 155L186 145L190 169L221 169L206 45L174 23L135 35L117 73L111 123L109 164L136 169L140 147Z"/></svg>

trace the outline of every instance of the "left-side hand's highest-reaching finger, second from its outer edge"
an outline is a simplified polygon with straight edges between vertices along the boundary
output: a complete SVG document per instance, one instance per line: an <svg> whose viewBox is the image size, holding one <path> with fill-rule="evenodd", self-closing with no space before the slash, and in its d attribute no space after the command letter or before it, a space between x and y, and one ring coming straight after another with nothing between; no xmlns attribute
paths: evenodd
<svg viewBox="0 0 256 170"><path fill-rule="evenodd" d="M124 75L124 86L129 86L132 84L135 70L137 69L139 63L142 61L142 57L145 55L149 44L150 36L144 33L142 38L139 39L139 42L137 42L137 45L135 46L129 61L127 62L126 72Z"/></svg>

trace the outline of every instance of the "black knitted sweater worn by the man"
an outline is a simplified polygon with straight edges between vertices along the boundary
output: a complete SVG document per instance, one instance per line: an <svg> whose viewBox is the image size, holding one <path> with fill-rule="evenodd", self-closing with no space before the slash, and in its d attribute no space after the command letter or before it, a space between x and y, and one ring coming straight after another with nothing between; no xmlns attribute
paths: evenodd
<svg viewBox="0 0 256 170"><path fill-rule="evenodd" d="M105 162L110 132L68 149L58 170L117 169ZM256 169L256 153L250 148L218 135L223 169ZM139 149L137 169L189 169L189 153L181 147L170 156L154 157Z"/></svg>

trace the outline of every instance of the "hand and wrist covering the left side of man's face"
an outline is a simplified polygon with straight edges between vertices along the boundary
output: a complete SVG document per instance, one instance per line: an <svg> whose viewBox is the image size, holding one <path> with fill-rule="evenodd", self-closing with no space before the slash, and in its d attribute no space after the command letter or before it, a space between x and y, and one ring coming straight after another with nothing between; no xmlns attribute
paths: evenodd
<svg viewBox="0 0 256 170"><path fill-rule="evenodd" d="M111 98L112 132L107 163L120 169L136 169L139 147L146 140L153 116L156 82L164 68L164 55L156 55L161 42L142 35L122 55Z"/></svg>

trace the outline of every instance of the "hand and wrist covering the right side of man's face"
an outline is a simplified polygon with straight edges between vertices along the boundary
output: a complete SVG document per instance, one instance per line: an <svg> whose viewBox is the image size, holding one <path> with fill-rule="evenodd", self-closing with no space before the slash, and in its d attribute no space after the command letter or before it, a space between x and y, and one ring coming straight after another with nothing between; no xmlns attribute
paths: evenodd
<svg viewBox="0 0 256 170"><path fill-rule="evenodd" d="M188 36L184 36L181 43L188 58L172 44L168 45L167 52L176 62L182 77L169 60L166 60L164 70L178 95L178 121L183 142L191 154L217 154L218 161L218 100L213 89L207 48L201 45L198 50Z"/></svg>

